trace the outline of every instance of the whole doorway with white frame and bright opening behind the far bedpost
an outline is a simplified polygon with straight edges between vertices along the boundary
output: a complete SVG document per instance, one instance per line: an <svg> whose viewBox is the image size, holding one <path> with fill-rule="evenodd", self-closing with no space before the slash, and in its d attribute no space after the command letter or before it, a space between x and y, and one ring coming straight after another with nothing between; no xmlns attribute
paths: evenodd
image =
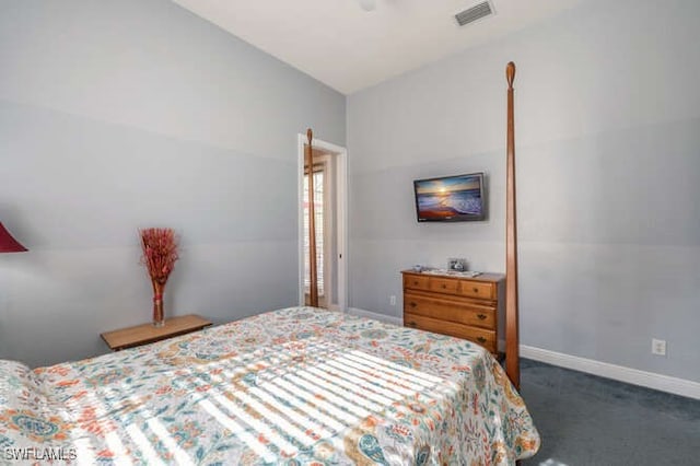
<svg viewBox="0 0 700 466"><path fill-rule="evenodd" d="M314 151L314 210L318 306L334 311L347 307L347 151L318 139ZM299 303L308 302L308 171L305 135L299 135Z"/></svg>

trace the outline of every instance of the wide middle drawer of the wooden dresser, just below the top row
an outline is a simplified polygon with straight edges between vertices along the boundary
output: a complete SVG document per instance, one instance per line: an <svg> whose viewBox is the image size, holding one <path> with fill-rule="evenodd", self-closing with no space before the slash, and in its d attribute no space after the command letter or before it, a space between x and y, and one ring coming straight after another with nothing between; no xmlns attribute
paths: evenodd
<svg viewBox="0 0 700 466"><path fill-rule="evenodd" d="M466 300L459 302L406 293L404 295L404 312L490 330L495 329L495 307L469 303Z"/></svg>

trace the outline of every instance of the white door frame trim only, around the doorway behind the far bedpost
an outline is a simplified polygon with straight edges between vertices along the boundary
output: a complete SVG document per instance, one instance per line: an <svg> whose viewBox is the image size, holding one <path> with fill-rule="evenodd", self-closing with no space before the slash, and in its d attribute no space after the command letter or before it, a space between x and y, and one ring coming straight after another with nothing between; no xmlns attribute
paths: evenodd
<svg viewBox="0 0 700 466"><path fill-rule="evenodd" d="M304 144L306 135L299 135L298 144L298 206L299 206L299 305L304 305ZM348 150L320 139L312 139L316 149L323 149L337 155L336 199L338 202L338 305L340 311L348 308Z"/></svg>

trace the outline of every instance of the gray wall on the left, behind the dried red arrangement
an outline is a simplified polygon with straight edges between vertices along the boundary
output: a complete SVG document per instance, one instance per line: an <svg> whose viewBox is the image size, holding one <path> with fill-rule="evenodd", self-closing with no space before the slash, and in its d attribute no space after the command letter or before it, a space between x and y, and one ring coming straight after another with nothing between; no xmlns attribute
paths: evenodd
<svg viewBox="0 0 700 466"><path fill-rule="evenodd" d="M167 315L296 303L296 135L345 144L343 95L166 0L3 1L0 63L0 358L148 322L139 228L182 238Z"/></svg>

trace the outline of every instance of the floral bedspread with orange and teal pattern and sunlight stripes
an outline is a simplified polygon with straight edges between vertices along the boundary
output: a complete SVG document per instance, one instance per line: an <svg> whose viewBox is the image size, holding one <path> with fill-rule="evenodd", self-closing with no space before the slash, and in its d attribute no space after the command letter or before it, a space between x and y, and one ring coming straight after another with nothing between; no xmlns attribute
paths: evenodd
<svg viewBox="0 0 700 466"><path fill-rule="evenodd" d="M0 361L0 463L504 465L538 448L481 347L311 307L34 371Z"/></svg>

